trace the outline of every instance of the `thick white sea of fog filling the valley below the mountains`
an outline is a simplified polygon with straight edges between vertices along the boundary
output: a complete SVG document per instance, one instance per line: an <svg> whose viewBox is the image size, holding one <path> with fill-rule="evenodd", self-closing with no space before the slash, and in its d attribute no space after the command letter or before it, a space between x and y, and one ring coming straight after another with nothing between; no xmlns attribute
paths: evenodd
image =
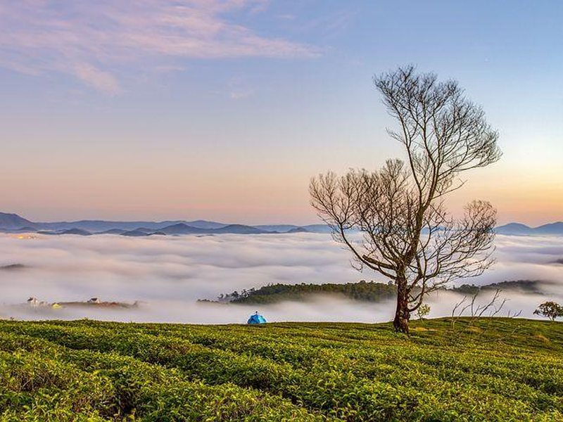
<svg viewBox="0 0 563 422"><path fill-rule="evenodd" d="M92 318L201 324L243 323L255 306L196 303L220 293L260 288L268 283L386 281L350 267L350 254L325 234L220 236L36 236L0 235L0 316L17 319ZM543 300L563 301L563 237L498 236L498 263L478 279L488 284L543 280L545 295L505 291L509 309L533 317ZM47 309L12 307L29 297L46 302L87 300L146 302L137 309ZM439 293L427 301L430 316L445 316L462 297ZM482 298L481 300L486 300ZM388 321L393 302L365 304L338 298L260 305L268 321Z"/></svg>

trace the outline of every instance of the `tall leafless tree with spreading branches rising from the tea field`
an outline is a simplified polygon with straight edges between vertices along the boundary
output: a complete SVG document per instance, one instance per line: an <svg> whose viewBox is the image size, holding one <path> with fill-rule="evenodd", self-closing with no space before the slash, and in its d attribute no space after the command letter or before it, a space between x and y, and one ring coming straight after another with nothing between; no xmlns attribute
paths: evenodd
<svg viewBox="0 0 563 422"><path fill-rule="evenodd" d="M321 174L311 180L310 196L358 269L368 267L396 284L393 324L408 333L410 313L425 295L493 263L496 210L476 200L464 217L454 218L443 200L463 185L460 173L485 167L501 153L497 132L457 82L438 82L409 66L374 77L374 84L399 124L388 134L407 159L388 160L375 172Z"/></svg>

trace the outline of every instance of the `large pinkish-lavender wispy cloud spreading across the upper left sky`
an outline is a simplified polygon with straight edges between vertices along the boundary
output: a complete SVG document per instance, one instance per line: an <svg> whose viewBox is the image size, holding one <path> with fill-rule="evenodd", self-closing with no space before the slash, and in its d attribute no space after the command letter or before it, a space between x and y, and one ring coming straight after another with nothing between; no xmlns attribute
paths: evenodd
<svg viewBox="0 0 563 422"><path fill-rule="evenodd" d="M315 46L267 37L236 17L265 0L0 0L0 66L63 72L117 94L118 69L177 66L176 58L310 58Z"/></svg>

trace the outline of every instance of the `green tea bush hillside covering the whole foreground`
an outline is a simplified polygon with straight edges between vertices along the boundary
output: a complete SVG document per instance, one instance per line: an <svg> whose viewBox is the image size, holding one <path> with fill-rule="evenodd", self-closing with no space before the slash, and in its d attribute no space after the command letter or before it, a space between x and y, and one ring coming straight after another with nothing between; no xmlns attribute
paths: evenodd
<svg viewBox="0 0 563 422"><path fill-rule="evenodd" d="M0 321L1 421L563 421L563 324Z"/></svg>

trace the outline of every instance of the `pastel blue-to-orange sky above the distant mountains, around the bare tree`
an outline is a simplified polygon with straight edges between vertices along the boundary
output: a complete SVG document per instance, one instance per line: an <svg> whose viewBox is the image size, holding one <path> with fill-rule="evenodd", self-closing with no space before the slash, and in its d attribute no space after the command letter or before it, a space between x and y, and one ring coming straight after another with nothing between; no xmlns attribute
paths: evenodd
<svg viewBox="0 0 563 422"><path fill-rule="evenodd" d="M504 156L459 211L563 219L560 1L0 0L0 210L317 222L310 177L403 153L372 75L457 79Z"/></svg>

